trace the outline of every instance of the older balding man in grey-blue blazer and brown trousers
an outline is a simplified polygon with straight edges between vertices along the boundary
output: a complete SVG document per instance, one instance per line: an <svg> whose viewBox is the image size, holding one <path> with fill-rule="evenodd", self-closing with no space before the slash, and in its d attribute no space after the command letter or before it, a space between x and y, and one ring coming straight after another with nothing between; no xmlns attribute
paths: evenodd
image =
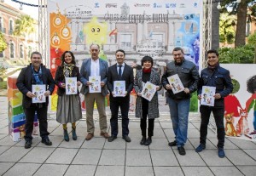
<svg viewBox="0 0 256 176"><path fill-rule="evenodd" d="M100 135L108 139L109 135L107 133L107 115L105 109L105 97L108 94L107 88L107 76L108 76L108 62L99 58L100 47L97 44L90 45L90 55L91 58L83 61L81 66L81 82L83 86L81 88L81 94L85 96L85 107L86 107L86 123L87 123L87 136L86 140L90 140L94 136L95 126L93 122L93 109L94 102L96 102L97 110L99 112L99 121L101 133ZM101 76L101 93L90 93L89 77Z"/></svg>

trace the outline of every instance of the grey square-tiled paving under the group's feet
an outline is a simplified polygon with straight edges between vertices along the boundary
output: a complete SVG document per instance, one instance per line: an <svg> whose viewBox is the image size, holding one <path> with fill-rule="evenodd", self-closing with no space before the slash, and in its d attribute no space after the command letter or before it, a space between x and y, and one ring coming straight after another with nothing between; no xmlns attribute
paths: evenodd
<svg viewBox="0 0 256 176"><path fill-rule="evenodd" d="M161 107L163 108L163 107ZM256 143L240 139L225 139L226 157L218 157L216 134L208 129L207 149L195 152L199 144L200 121L189 116L189 139L186 156L180 156L177 147L169 147L174 139L172 122L167 111L161 109L160 119L154 123L153 143L139 145L139 121L131 113L131 143L125 143L119 133L112 143L100 136L96 117L95 137L85 140L86 122L77 123L78 140L63 140L62 128L49 116L49 138L52 146L35 137L31 149L24 149L25 141L13 142L9 137L7 98L0 97L0 175L85 175L85 176L167 176L167 175L256 175ZM109 128L108 111L108 132ZM119 132L121 132L119 122ZM68 129L70 132L70 124Z"/></svg>

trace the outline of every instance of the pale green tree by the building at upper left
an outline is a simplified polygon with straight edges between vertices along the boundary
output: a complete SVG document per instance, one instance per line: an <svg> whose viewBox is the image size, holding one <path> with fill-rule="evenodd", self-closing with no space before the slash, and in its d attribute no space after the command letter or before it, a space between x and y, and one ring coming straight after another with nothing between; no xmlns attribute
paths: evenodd
<svg viewBox="0 0 256 176"><path fill-rule="evenodd" d="M35 20L31 16L27 14L21 15L20 19L15 20L15 36L23 36L27 41L28 35L36 31L34 25Z"/></svg>

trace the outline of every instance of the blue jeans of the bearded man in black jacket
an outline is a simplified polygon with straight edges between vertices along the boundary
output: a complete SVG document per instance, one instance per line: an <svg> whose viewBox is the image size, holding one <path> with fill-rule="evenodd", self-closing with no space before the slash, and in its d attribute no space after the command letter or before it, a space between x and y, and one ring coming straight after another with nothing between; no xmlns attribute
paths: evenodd
<svg viewBox="0 0 256 176"><path fill-rule="evenodd" d="M190 99L172 99L167 97L177 147L183 146L188 139Z"/></svg>

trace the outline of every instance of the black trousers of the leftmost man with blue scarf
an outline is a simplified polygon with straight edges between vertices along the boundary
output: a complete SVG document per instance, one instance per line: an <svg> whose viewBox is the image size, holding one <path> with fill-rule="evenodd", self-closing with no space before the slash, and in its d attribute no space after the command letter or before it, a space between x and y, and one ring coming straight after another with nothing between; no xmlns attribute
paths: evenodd
<svg viewBox="0 0 256 176"><path fill-rule="evenodd" d="M24 112L26 115L25 139L32 140L32 131L33 131L33 122L35 118L35 112L37 112L38 114L40 136L42 139L47 137L49 135L49 132L47 131L47 128L48 128L47 106L38 108L36 105L31 105L29 108L24 108Z"/></svg>

